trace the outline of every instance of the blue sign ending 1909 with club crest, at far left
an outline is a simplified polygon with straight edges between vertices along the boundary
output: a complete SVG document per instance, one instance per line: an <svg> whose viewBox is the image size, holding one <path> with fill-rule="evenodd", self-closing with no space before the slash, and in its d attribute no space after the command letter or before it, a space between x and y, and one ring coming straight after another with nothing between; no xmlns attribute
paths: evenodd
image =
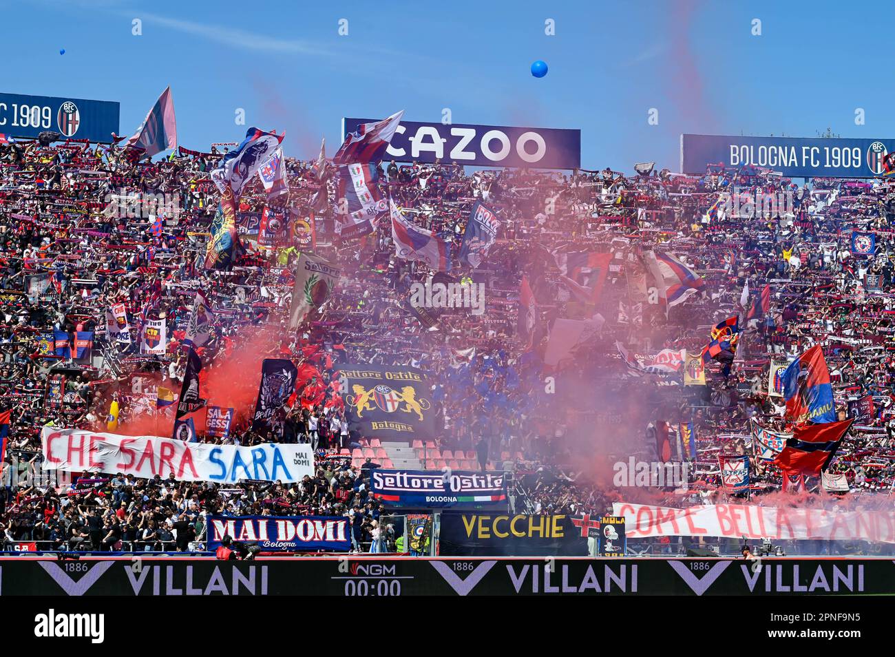
<svg viewBox="0 0 895 657"><path fill-rule="evenodd" d="M120 114L121 105L109 100L0 93L0 132L13 137L58 132L62 139L109 143Z"/></svg>

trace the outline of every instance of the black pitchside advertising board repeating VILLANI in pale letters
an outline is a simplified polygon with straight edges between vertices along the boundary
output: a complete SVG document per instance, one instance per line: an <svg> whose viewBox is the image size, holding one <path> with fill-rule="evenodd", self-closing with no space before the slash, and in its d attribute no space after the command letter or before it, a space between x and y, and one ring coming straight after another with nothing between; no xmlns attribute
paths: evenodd
<svg viewBox="0 0 895 657"><path fill-rule="evenodd" d="M0 595L856 595L892 559L0 558Z"/></svg>

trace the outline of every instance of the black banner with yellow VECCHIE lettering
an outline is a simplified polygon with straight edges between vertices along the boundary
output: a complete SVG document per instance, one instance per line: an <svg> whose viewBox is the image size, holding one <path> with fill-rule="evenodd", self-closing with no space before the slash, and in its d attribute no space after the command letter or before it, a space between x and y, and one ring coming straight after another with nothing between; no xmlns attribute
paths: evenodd
<svg viewBox="0 0 895 657"><path fill-rule="evenodd" d="M446 557L587 555L587 532L572 516L443 513L439 555Z"/></svg>

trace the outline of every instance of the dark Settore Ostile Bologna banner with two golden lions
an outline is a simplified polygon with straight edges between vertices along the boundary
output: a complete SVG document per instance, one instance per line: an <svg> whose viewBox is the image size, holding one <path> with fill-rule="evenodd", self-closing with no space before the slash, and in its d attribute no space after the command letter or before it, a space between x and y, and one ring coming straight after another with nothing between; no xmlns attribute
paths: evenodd
<svg viewBox="0 0 895 657"><path fill-rule="evenodd" d="M435 409L422 371L348 364L342 376L352 431L368 438L429 439L435 434Z"/></svg>

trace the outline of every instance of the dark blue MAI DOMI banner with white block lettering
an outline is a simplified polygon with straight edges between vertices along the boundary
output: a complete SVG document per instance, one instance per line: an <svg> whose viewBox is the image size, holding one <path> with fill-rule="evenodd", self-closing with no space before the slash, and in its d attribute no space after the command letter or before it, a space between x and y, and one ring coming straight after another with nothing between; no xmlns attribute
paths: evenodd
<svg viewBox="0 0 895 657"><path fill-rule="evenodd" d="M257 543L261 550L303 552L351 548L351 527L341 516L211 516L209 550L217 550L221 539Z"/></svg>

